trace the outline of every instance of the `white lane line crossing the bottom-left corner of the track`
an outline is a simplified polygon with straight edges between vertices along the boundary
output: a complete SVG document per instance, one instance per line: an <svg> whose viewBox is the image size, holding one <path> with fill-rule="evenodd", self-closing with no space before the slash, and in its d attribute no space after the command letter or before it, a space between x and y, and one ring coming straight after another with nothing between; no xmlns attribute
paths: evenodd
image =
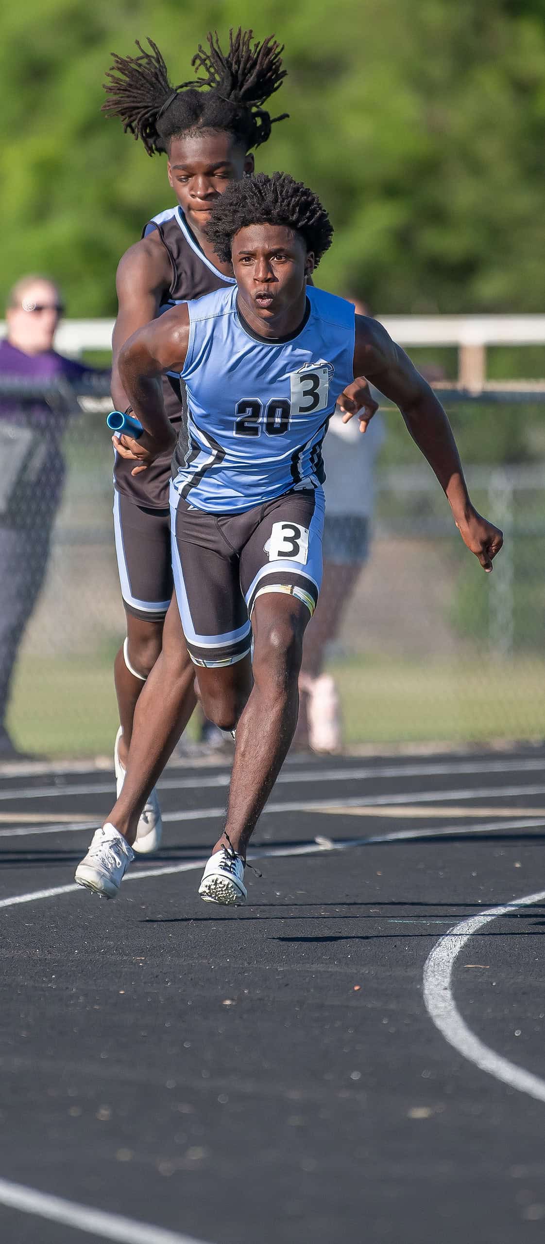
<svg viewBox="0 0 545 1244"><path fill-rule="evenodd" d="M109 1214L104 1209L91 1209L78 1205L63 1197L51 1197L46 1192L26 1188L22 1183L0 1179L0 1204L10 1209L20 1209L25 1214L47 1218L52 1223L74 1227L76 1230L98 1235L103 1240L118 1240L120 1244L205 1244L192 1235L180 1235L163 1227L138 1223L123 1214Z"/></svg>

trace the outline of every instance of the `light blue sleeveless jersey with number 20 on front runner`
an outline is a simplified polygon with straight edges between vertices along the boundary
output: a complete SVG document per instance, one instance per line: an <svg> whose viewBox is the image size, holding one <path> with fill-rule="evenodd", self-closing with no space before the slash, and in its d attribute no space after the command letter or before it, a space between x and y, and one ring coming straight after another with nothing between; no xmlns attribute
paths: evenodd
<svg viewBox="0 0 545 1244"><path fill-rule="evenodd" d="M187 302L189 452L174 488L190 505L235 514L323 483L322 442L354 378L354 306L309 286L307 320L288 341L252 335L237 287Z"/></svg>

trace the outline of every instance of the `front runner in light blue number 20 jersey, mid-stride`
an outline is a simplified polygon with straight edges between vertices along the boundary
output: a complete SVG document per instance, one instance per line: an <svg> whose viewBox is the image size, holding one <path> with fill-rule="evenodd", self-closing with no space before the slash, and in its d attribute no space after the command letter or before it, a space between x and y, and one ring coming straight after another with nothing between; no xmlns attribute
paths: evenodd
<svg viewBox="0 0 545 1244"><path fill-rule="evenodd" d="M331 233L318 198L287 174L232 183L207 235L231 259L237 289L168 311L119 356L145 429L125 439L135 471L171 442L163 373L178 371L187 391L190 449L170 494L176 600L204 709L236 728L226 822L199 891L209 902L245 901L247 846L295 729L322 573L322 440L350 376L364 373L399 404L484 570L503 542L472 505L447 415L405 352L351 304L307 287ZM175 649L169 638L164 679L146 688L150 736L169 714ZM76 871L81 884L117 893L137 815L122 792Z"/></svg>

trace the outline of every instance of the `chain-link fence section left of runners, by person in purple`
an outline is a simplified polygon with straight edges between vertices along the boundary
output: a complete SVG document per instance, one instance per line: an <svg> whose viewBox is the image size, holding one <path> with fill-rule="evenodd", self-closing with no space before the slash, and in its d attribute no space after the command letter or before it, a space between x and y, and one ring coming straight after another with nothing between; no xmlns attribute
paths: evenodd
<svg viewBox="0 0 545 1244"><path fill-rule="evenodd" d="M24 751L110 750L124 613L108 409L102 377L77 398L66 382L0 381L0 710L7 700L6 724Z"/></svg>

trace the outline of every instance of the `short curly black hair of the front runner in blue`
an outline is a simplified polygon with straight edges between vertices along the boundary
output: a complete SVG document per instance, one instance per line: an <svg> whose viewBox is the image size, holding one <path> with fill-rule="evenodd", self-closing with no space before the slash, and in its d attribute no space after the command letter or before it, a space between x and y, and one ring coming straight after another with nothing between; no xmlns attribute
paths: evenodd
<svg viewBox="0 0 545 1244"><path fill-rule="evenodd" d="M215 200L205 233L218 259L228 262L235 234L247 225L287 225L300 234L318 265L331 245L333 225L317 194L289 173L256 173L230 182Z"/></svg>

